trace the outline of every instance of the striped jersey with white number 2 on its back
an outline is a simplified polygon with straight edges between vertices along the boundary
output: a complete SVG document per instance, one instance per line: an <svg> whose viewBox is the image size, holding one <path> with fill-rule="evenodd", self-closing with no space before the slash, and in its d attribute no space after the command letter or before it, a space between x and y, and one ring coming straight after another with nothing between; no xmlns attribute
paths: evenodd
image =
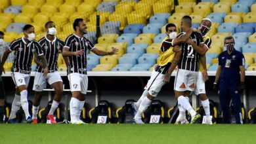
<svg viewBox="0 0 256 144"><path fill-rule="evenodd" d="M185 33L180 33L177 37L182 37ZM190 35L190 39L196 45L200 46L201 43L203 43L203 37L202 34L193 31ZM185 69L188 71L198 71L199 70L199 54L194 50L192 45L188 45L187 43L181 44L181 60L179 63L179 69Z"/></svg>

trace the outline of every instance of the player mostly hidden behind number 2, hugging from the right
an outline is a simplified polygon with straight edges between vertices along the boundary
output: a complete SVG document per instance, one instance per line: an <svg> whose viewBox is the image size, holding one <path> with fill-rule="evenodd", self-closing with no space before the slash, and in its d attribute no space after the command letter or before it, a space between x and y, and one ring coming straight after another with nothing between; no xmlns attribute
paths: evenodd
<svg viewBox="0 0 256 144"><path fill-rule="evenodd" d="M201 33L203 35L203 41L204 41L204 44L205 44L207 50L211 46L211 38L207 35L207 32L209 31L209 29L211 29L211 20L209 18L203 18L199 30L201 31ZM204 60L206 63L205 54L203 54L202 59L200 59L200 60ZM205 111L205 116L206 116L205 124L213 124L211 121L211 117L210 117L210 103L209 103L209 99L207 98L206 92L205 92L205 81L208 80L207 68L203 67L202 61L200 61L199 69L200 69L200 71L198 73L198 79L196 81L195 94L197 96L199 96L199 98L201 99L201 103L202 103L203 109Z"/></svg>

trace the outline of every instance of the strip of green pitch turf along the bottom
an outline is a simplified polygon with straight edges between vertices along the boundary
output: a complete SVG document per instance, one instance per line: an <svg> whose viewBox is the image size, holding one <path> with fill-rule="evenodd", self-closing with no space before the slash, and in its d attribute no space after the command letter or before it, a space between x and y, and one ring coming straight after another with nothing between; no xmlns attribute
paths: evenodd
<svg viewBox="0 0 256 144"><path fill-rule="evenodd" d="M256 125L0 124L0 143L256 143Z"/></svg>

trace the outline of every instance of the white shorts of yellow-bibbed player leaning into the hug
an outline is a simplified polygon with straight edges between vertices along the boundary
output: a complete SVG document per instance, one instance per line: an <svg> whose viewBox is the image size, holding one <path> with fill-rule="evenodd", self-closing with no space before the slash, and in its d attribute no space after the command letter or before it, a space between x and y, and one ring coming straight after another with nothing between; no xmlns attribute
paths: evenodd
<svg viewBox="0 0 256 144"><path fill-rule="evenodd" d="M151 96L158 96L158 93L161 90L161 87L165 84L165 82L163 82L163 77L165 75L156 72L156 71L152 71L150 80L148 80L148 83L145 86L145 90L148 90L148 93Z"/></svg>

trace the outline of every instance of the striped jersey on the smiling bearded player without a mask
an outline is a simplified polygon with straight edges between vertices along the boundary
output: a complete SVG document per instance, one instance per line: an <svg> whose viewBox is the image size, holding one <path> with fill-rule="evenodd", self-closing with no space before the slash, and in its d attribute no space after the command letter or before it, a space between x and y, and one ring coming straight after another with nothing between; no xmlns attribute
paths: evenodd
<svg viewBox="0 0 256 144"><path fill-rule="evenodd" d="M78 50L83 50L81 56L69 56L68 57L68 74L70 73L81 73L86 74L86 50L93 50L95 46L91 41L85 37L79 37L78 35L69 35L65 41L66 48L69 48L70 52L76 52Z"/></svg>

